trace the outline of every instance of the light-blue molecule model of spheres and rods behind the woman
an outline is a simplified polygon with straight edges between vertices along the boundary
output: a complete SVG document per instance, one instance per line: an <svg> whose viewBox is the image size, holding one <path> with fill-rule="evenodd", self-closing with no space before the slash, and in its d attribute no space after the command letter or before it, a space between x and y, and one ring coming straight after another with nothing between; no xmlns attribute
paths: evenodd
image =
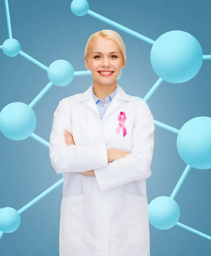
<svg viewBox="0 0 211 256"><path fill-rule="evenodd" d="M37 140L39 143L49 148L47 141L34 134L37 119L32 108L45 93L47 93L53 84L56 86L66 86L74 79L74 76L91 75L91 72L89 70L74 71L72 65L65 60L54 61L49 67L46 67L27 55L20 49L20 43L12 38L8 0L5 0L5 9L9 39L4 41L0 49L9 57L20 54L43 70L46 70L49 83L29 105L23 102L13 102L6 105L0 112L0 131L11 140L24 140L28 137L32 137L34 140ZM159 76L159 79L142 99L145 102L148 101L163 81L170 83L189 81L197 75L203 60L211 59L211 55L203 55L202 48L197 39L187 32L178 30L166 32L157 38L156 41L153 41L125 26L92 12L89 10L89 4L86 0L73 0L71 3L71 11L77 16L88 14L152 45L150 55L151 65L154 72ZM120 79L121 75L122 70L118 79ZM154 120L154 125L177 134L177 150L187 166L172 194L169 197L161 196L155 198L148 205L149 222L160 230L167 230L177 225L211 240L211 236L179 222L180 207L174 200L191 167L196 169L211 168L211 118L208 116L193 118L186 122L180 130L157 120ZM48 193L62 183L63 177L19 210L11 207L0 208L0 239L3 233L12 233L18 229L20 226L21 213L37 203L44 196L48 195Z"/></svg>

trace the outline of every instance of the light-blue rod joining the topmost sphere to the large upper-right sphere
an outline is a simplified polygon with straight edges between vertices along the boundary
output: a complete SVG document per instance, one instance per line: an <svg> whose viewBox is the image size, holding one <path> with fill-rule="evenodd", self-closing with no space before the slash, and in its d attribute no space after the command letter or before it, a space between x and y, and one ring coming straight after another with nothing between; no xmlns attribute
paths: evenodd
<svg viewBox="0 0 211 256"><path fill-rule="evenodd" d="M103 22L105 22L105 23L107 23L107 24L109 24L109 25L111 25L111 26L114 26L114 27L116 27L117 29L120 29L120 30L122 30L122 31L124 31L124 32L126 32L126 33L128 33L128 34L130 34L130 35L133 35L134 37L139 38L139 39L145 41L145 42L148 43L148 44L152 44L152 45L153 45L154 42L155 42L154 40L152 40L152 39L150 39L150 38L147 38L147 37L145 37L144 35L141 35L141 34L135 32L135 31L133 31L133 30L131 30L131 29L128 29L128 28L126 28L125 26L122 26L122 25L120 25L119 23L114 22L113 20L109 20L108 18L103 17L102 15L97 14L96 12L92 12L91 10L88 10L87 14L90 15L90 16L92 16L92 17L95 17L95 18L97 18L98 20L101 20L101 21L103 21Z"/></svg>

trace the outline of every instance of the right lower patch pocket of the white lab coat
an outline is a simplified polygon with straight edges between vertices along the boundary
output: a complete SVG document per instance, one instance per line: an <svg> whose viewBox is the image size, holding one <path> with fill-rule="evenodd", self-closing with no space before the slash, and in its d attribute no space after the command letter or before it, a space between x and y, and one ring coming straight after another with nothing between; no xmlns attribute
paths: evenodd
<svg viewBox="0 0 211 256"><path fill-rule="evenodd" d="M147 198L126 193L128 241L131 244L149 242L149 219Z"/></svg>

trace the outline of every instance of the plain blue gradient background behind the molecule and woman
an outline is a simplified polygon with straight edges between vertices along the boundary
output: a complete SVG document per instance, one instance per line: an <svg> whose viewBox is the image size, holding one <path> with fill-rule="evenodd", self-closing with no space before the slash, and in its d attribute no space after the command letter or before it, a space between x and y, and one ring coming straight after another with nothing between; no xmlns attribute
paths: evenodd
<svg viewBox="0 0 211 256"><path fill-rule="evenodd" d="M89 9L148 38L156 40L171 30L183 30L200 42L203 54L211 54L210 1L203 0L89 0ZM151 67L151 45L89 15L75 16L70 0L9 0L13 38L21 50L47 67L57 60L69 61L75 71L86 70L84 49L89 36L113 29L126 45L127 63L118 84L129 95L143 98L159 78ZM4 1L0 1L0 45L8 38ZM197 116L210 116L211 61L204 60L190 81L163 81L148 100L155 120L180 129ZM0 110L11 102L29 104L48 84L46 71L21 55L7 57L0 50ZM34 106L35 134L49 141L53 113L61 99L83 93L91 76L75 77L65 87L53 86ZM148 202L170 196L186 163L176 147L177 135L155 127L152 175L147 179ZM57 182L48 148L29 137L13 141L0 133L0 207L20 209ZM192 168L175 200L180 222L211 236L211 170ZM0 240L3 256L58 256L62 186L21 214L20 227ZM209 255L211 241L175 226L157 230L150 224L151 256Z"/></svg>

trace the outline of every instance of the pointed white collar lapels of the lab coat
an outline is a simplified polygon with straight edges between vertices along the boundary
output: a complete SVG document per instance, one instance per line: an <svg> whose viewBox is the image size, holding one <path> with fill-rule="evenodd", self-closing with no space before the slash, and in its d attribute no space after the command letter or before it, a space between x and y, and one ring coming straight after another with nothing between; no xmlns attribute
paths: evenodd
<svg viewBox="0 0 211 256"><path fill-rule="evenodd" d="M86 105L91 108L95 113L97 113L97 116L100 118L99 111L97 109L97 105L94 101L94 98L92 96L92 85L86 90L84 93L82 93L81 98L79 102L85 101ZM114 96L114 99L111 101L111 104L109 105L105 115L103 116L103 119L106 118L109 114L111 114L115 109L117 109L121 103L122 100L131 100L131 96L127 95L124 90L117 84L117 93ZM101 119L101 118L100 118ZM102 119L102 121L103 121Z"/></svg>

